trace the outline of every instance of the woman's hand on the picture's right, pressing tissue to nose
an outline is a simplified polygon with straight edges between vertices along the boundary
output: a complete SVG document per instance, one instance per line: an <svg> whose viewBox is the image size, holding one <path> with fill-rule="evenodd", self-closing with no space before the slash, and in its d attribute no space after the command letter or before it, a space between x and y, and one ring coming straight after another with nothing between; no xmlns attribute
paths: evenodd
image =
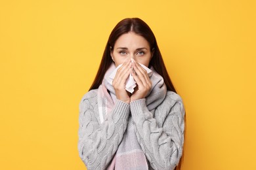
<svg viewBox="0 0 256 170"><path fill-rule="evenodd" d="M141 67L141 65L139 65L139 63L133 60L133 71L131 71L131 74L137 83L135 92L131 95L131 101L145 98L152 84L148 77L148 73L143 67Z"/></svg>

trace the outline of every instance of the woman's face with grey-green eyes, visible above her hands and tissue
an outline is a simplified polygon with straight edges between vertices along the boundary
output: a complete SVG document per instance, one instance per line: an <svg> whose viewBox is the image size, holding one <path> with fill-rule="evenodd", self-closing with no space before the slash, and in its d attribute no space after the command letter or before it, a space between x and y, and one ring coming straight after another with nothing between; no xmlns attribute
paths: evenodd
<svg viewBox="0 0 256 170"><path fill-rule="evenodd" d="M137 63L142 63L148 67L152 58L152 52L150 51L150 44L144 37L134 32L129 32L117 39L111 56L116 67L131 58L137 61Z"/></svg>

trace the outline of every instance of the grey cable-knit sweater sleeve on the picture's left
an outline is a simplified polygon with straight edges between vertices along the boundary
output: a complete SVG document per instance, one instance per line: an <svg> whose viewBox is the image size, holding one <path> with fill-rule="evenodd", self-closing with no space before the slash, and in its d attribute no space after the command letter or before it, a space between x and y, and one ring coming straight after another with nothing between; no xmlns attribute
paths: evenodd
<svg viewBox="0 0 256 170"><path fill-rule="evenodd" d="M130 107L117 100L100 124L96 94L88 92L79 103L78 151L87 169L106 169L123 138Z"/></svg>

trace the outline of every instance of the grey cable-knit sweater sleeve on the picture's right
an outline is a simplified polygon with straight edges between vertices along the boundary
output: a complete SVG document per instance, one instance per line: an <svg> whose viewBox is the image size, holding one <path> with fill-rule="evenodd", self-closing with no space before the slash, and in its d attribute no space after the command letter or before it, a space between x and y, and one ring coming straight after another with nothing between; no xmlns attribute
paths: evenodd
<svg viewBox="0 0 256 170"><path fill-rule="evenodd" d="M177 93L167 93L154 116L146 107L146 99L133 101L130 105L137 139L151 167L174 169L182 156L184 143L181 97Z"/></svg>

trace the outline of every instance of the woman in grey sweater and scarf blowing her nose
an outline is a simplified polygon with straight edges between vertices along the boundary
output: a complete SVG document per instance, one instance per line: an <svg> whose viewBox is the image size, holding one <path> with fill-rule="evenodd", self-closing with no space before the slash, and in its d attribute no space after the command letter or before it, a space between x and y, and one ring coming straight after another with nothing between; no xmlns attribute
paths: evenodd
<svg viewBox="0 0 256 170"><path fill-rule="evenodd" d="M139 18L121 20L79 104L81 160L87 169L180 169L183 143L182 99L154 33Z"/></svg>

